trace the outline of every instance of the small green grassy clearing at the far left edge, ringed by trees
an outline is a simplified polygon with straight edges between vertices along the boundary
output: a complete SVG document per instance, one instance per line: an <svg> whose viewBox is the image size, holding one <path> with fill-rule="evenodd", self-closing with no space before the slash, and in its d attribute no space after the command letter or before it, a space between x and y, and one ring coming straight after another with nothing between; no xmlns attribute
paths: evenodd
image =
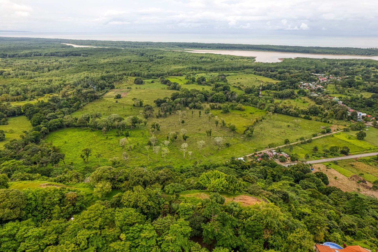
<svg viewBox="0 0 378 252"><path fill-rule="evenodd" d="M31 124L28 118L23 115L17 117L8 118L8 124L0 125L0 129L5 131L5 140L0 142L0 147L2 148L6 143L14 138L20 138L20 135L24 131L31 129Z"/></svg>

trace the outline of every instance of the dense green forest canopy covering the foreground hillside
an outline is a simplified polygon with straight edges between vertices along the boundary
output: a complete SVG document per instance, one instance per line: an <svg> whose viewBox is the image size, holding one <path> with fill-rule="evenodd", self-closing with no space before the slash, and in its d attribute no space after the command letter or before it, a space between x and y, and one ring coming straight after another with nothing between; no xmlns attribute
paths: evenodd
<svg viewBox="0 0 378 252"><path fill-rule="evenodd" d="M302 163L283 167L264 157L179 170L121 164L98 167L88 181L99 200L82 212L90 200L83 192L20 191L2 182L0 250L307 252L314 242L353 240L377 249L377 199L327 187L324 173ZM116 188L122 192L105 198ZM194 202L186 190L208 196ZM245 195L255 202L242 207L219 191L258 198Z"/></svg>

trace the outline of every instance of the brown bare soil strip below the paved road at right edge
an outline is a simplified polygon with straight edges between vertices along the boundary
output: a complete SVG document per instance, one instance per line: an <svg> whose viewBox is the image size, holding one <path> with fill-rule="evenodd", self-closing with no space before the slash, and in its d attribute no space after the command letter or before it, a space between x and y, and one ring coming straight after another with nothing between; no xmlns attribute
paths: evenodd
<svg viewBox="0 0 378 252"><path fill-rule="evenodd" d="M378 191L372 190L372 183L364 180L364 178L360 176L352 175L346 177L332 168L327 169L323 164L314 164L313 167L313 172L321 171L327 175L330 182L328 186L338 187L342 191L355 191L378 198ZM357 181L360 181L360 183L357 183Z"/></svg>

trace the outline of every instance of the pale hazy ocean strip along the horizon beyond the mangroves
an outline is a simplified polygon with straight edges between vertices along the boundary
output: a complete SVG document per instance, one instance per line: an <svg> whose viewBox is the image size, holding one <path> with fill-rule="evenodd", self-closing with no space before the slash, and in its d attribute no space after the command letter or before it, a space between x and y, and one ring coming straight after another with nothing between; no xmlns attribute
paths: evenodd
<svg viewBox="0 0 378 252"><path fill-rule="evenodd" d="M298 34L193 34L193 33L34 33L34 32L0 32L3 37L41 37L55 39L93 39L93 40L124 40L152 42L203 42L232 43L255 45L298 45L318 47L359 47L378 48L378 37L352 36L319 36Z"/></svg>

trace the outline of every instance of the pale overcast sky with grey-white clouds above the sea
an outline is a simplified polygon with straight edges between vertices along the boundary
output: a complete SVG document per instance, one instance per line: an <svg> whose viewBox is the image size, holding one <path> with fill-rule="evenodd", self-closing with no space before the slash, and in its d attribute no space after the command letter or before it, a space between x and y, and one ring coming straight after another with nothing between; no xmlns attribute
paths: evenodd
<svg viewBox="0 0 378 252"><path fill-rule="evenodd" d="M376 36L377 0L0 0L0 30Z"/></svg>

